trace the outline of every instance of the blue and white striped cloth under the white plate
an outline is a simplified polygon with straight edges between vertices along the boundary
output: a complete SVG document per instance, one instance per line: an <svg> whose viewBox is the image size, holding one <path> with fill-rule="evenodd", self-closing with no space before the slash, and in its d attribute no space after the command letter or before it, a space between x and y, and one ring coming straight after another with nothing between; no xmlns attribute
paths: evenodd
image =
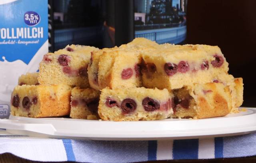
<svg viewBox="0 0 256 163"><path fill-rule="evenodd" d="M8 152L33 161L128 163L256 155L256 132L242 136L168 141L95 141L6 134L0 130L0 154Z"/></svg>

